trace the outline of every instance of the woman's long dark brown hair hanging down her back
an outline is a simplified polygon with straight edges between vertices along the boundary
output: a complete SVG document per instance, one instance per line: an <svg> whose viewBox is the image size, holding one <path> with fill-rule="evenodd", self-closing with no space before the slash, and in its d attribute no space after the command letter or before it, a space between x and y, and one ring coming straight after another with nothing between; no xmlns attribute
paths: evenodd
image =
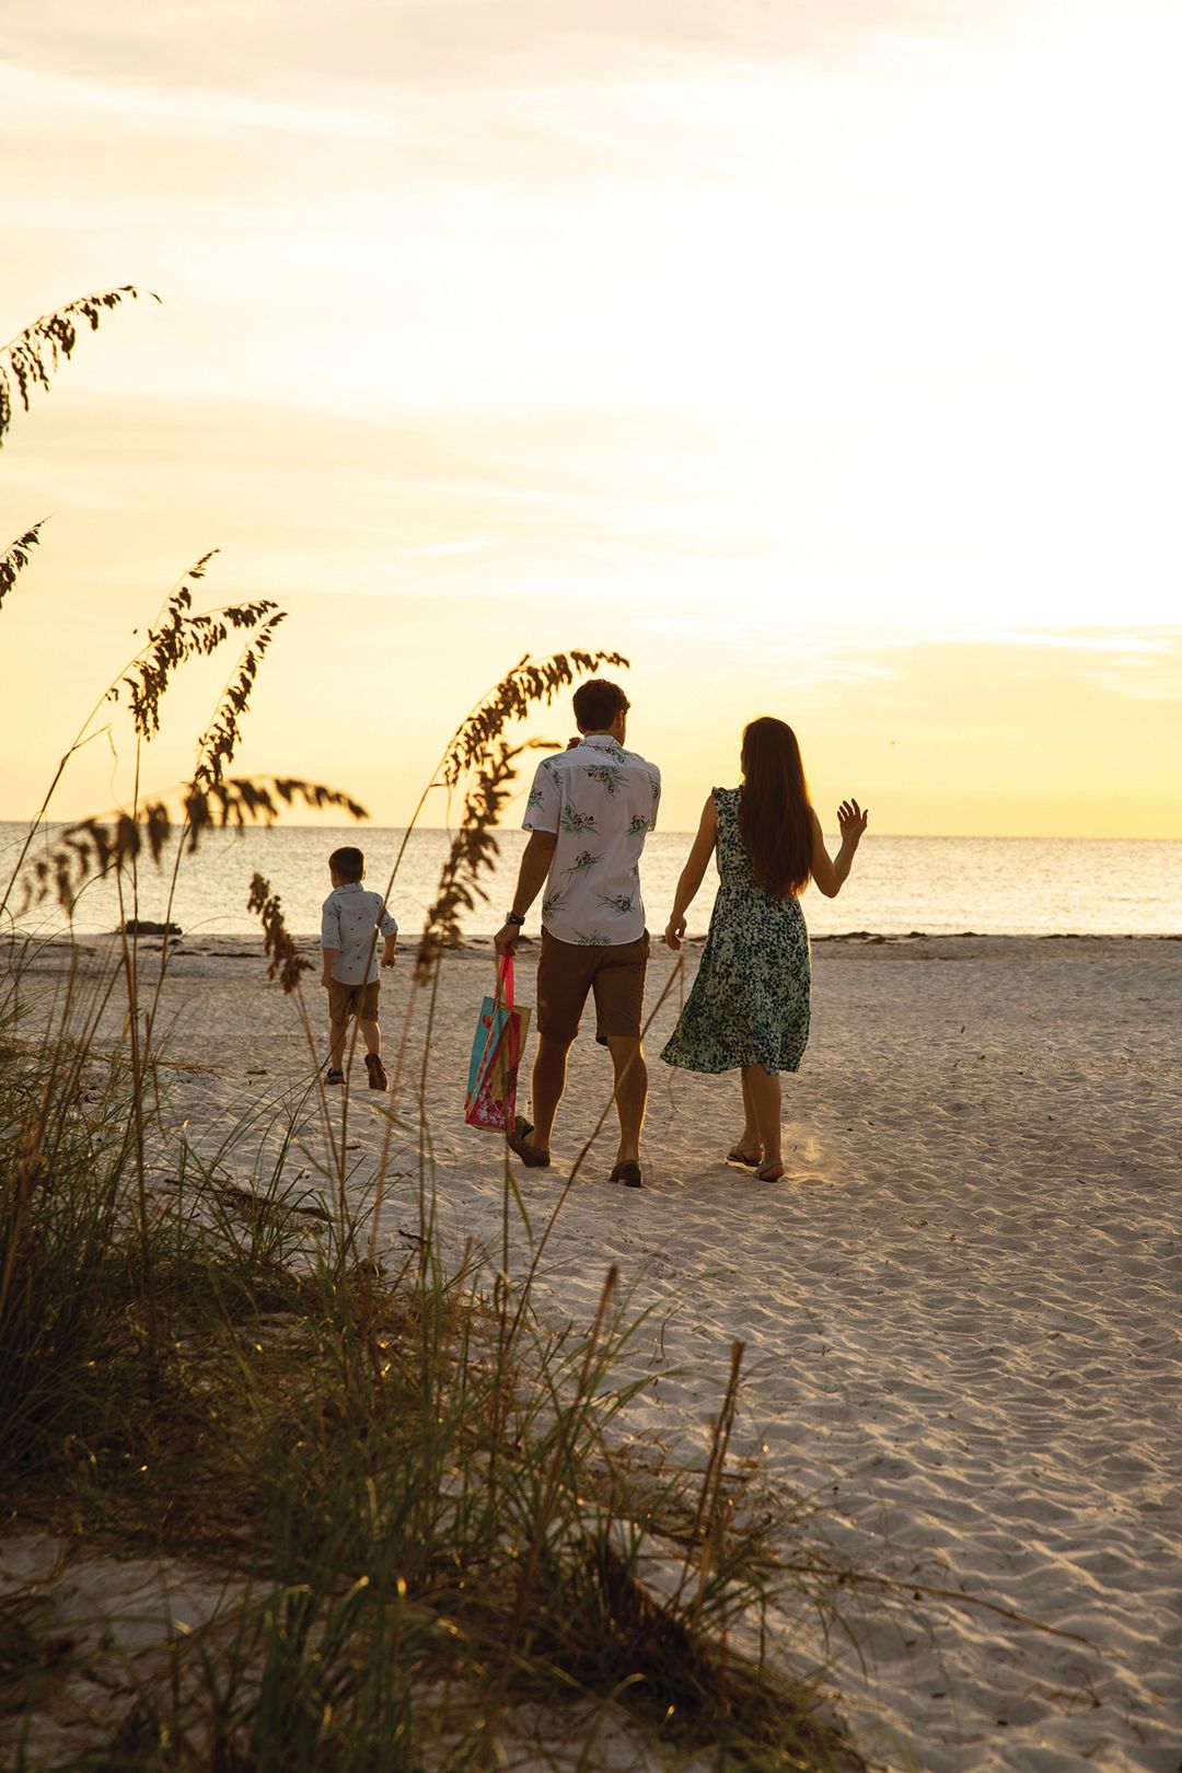
<svg viewBox="0 0 1182 1773"><path fill-rule="evenodd" d="M792 727L771 715L743 729L739 835L766 892L783 899L808 885L813 808L805 764Z"/></svg>

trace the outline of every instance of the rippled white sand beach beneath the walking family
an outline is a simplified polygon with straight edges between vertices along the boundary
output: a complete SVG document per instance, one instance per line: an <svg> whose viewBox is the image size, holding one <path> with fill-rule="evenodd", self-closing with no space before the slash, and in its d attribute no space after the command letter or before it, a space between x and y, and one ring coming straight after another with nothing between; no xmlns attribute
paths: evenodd
<svg viewBox="0 0 1182 1773"><path fill-rule="evenodd" d="M535 952L519 956L523 1002ZM587 1321L618 1264L636 1308L654 1308L633 1355L650 1383L626 1424L638 1447L686 1459L709 1441L732 1340L746 1344L734 1454L815 1498L812 1543L886 1583L845 1592L849 1635L828 1645L829 1686L877 1766L1177 1773L1182 941L817 943L813 1034L785 1080L787 1175L773 1186L723 1163L737 1078L657 1057L698 952L645 1041L647 1186L606 1186L610 1121L553 1227L539 1303ZM654 949L650 1005L673 965ZM62 966L46 950L30 986ZM487 947L445 959L425 1073L439 1232L455 1250L500 1238L503 1145L463 1121L491 979ZM404 954L383 986L388 1058L411 995L406 1110L431 995ZM323 995L307 996L319 1018ZM170 1112L206 1152L307 1082L298 1018L255 941L184 941L165 1002L183 1062ZM358 1057L358 1202L385 1131L385 1097L363 1085ZM608 1092L585 1027L556 1167L516 1170L535 1238ZM383 1248L416 1227L409 1149L399 1135ZM236 1179L252 1186L248 1170Z"/></svg>

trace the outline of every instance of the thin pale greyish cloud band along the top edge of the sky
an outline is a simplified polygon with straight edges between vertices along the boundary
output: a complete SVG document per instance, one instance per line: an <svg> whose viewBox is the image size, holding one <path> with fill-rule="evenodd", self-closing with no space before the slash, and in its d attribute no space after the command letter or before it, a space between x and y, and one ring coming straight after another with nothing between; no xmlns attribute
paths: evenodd
<svg viewBox="0 0 1182 1773"><path fill-rule="evenodd" d="M1086 0L1079 0L1086 4ZM5 59L105 80L218 90L443 87L489 90L645 73L684 60L856 53L868 35L973 39L1019 0L9 0Z"/></svg>

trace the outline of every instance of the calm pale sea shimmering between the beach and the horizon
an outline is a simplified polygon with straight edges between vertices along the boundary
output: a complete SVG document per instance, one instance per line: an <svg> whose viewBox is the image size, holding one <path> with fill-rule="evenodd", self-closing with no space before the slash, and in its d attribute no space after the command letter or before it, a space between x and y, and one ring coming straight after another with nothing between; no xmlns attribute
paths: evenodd
<svg viewBox="0 0 1182 1773"><path fill-rule="evenodd" d="M25 826L0 823L4 879L25 837ZM257 929L246 911L255 871L266 874L296 934L319 931L319 906L328 892L326 856L344 842L367 855L367 883L385 888L402 832L381 828L315 830L276 826L222 833L202 840L181 865L172 920L186 934L239 934ZM496 929L512 895L521 832L502 835L502 862L487 906L466 920L468 934ZM44 839L39 839L39 853ZM422 927L447 855L445 832L415 832L392 892L404 936ZM657 832L645 846L642 878L649 926L663 929L673 902L689 837ZM170 871L168 871L170 872ZM140 917L161 920L167 872L145 867ZM716 876L711 867L689 913L689 931L709 922ZM1182 840L1092 840L1010 837L875 837L863 842L854 874L840 899L812 888L803 899L815 936L874 931L884 936L925 931L932 936L976 931L996 936L1177 936L1182 934ZM74 913L80 934L113 929L119 904L106 881L89 886ZM64 927L60 913L43 906L21 918L23 929ZM537 910L526 933L537 929Z"/></svg>

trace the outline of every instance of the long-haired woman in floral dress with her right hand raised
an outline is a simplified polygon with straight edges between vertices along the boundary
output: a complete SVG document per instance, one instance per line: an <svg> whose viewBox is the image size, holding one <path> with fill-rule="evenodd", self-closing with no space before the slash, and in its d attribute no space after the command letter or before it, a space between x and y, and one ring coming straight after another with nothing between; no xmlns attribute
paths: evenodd
<svg viewBox="0 0 1182 1773"><path fill-rule="evenodd" d="M826 899L836 899L867 812L856 800L842 801L842 847L829 856L796 734L771 715L744 727L741 762L741 787L711 791L677 883L665 929L670 949L682 945L686 911L718 849L711 933L661 1058L686 1071L743 1071L743 1133L727 1158L753 1168L762 1183L778 1183L780 1073L799 1071L808 1041L808 931L799 894L813 879Z"/></svg>

